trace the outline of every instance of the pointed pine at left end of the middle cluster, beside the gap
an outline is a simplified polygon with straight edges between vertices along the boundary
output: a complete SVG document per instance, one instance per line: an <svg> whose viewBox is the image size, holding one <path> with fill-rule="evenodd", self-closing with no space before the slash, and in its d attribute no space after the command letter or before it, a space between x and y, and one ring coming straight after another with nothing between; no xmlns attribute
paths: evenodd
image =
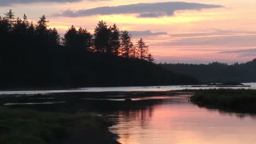
<svg viewBox="0 0 256 144"><path fill-rule="evenodd" d="M71 50L77 49L77 33L77 29L72 25L71 28L68 28L64 38L62 38L62 44L69 47Z"/></svg>

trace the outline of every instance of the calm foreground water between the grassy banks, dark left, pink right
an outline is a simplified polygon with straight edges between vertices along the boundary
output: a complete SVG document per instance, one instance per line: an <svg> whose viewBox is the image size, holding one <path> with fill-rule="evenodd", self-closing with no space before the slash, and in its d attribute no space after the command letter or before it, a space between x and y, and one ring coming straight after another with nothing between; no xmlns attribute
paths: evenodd
<svg viewBox="0 0 256 144"><path fill-rule="evenodd" d="M104 97L98 95L90 94L90 97L77 101L59 99L61 103L56 103L57 99L50 95L55 104L21 103L7 106L107 116L114 123L109 130L118 134L121 137L118 141L123 144L256 143L256 114L199 107L189 103L189 93L117 92L103 94ZM127 103L125 98L132 98L133 101Z"/></svg>

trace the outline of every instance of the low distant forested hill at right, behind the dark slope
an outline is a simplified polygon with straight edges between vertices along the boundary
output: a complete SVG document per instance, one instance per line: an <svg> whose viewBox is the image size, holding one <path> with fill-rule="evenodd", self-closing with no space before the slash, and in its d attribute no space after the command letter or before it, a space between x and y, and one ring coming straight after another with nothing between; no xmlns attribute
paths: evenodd
<svg viewBox="0 0 256 144"><path fill-rule="evenodd" d="M202 83L256 82L256 59L242 64L159 64L162 68L196 77Z"/></svg>

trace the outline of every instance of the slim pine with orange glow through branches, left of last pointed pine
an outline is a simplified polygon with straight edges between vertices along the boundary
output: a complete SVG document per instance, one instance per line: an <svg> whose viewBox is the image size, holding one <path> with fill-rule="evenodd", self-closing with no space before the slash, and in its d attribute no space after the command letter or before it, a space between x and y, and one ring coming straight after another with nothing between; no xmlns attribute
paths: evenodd
<svg viewBox="0 0 256 144"><path fill-rule="evenodd" d="M121 55L123 57L129 57L130 56L130 50L133 46L131 42L131 34L129 34L128 31L122 31L121 32Z"/></svg>

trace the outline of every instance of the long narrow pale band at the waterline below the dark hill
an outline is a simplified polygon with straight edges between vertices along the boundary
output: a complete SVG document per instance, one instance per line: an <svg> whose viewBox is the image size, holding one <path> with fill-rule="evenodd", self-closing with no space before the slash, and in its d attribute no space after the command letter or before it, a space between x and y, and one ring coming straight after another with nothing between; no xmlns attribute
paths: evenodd
<svg viewBox="0 0 256 144"><path fill-rule="evenodd" d="M26 88L0 88L3 94L49 94L49 93L77 93L77 92L165 92L165 91L194 91L196 89L256 89L256 83L243 83L241 85L167 85L167 86L117 86L117 87L26 87Z"/></svg>

